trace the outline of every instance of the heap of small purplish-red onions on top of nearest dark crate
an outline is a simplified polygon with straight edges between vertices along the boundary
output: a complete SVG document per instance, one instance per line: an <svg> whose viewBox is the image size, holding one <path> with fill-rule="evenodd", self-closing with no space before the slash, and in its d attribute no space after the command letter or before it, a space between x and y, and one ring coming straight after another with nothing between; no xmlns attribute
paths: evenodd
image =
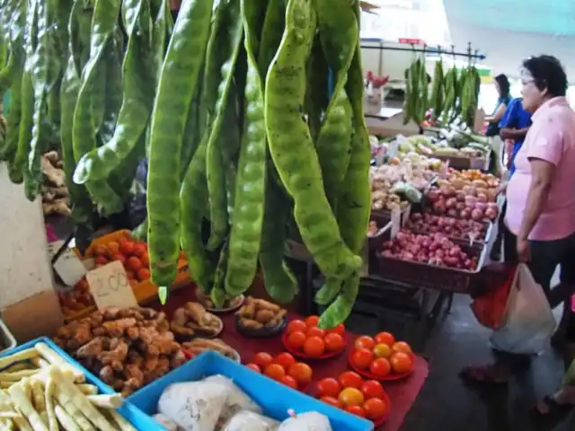
<svg viewBox="0 0 575 431"><path fill-rule="evenodd" d="M381 255L385 258L410 260L438 267L473 271L479 258L470 256L441 233L420 235L403 230L394 240L384 242Z"/></svg>

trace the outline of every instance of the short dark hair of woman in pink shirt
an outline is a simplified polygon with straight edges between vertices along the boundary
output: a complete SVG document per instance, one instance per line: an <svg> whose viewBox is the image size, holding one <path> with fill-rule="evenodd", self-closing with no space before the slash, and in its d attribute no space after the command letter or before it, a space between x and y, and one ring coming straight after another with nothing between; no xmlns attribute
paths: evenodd
<svg viewBox="0 0 575 431"><path fill-rule="evenodd" d="M545 88L553 97L567 93L567 75L561 62L553 56L530 57L523 67L533 76L535 85L541 91Z"/></svg>

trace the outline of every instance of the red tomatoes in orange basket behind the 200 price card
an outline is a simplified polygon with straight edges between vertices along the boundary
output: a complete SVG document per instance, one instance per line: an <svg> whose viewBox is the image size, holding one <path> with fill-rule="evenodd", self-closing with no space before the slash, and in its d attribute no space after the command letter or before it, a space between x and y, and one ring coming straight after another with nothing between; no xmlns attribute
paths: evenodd
<svg viewBox="0 0 575 431"><path fill-rule="evenodd" d="M93 257L96 267L119 260L126 269L131 286L150 278L147 244L129 236L123 236L118 241L95 245L88 257Z"/></svg>

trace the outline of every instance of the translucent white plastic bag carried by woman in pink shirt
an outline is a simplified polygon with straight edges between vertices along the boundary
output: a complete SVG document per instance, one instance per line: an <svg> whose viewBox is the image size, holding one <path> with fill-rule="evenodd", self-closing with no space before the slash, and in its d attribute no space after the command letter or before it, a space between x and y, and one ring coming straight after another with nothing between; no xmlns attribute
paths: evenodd
<svg viewBox="0 0 575 431"><path fill-rule="evenodd" d="M491 345L501 352L536 355L548 344L555 326L543 288L535 283L529 268L519 264L503 324L493 331Z"/></svg>

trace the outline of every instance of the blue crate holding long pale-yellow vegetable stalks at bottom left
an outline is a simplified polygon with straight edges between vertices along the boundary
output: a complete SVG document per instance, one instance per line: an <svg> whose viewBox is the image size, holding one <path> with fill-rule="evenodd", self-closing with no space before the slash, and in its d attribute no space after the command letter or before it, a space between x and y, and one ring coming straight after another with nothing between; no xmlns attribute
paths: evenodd
<svg viewBox="0 0 575 431"><path fill-rule="evenodd" d="M86 382L97 386L100 393L114 393L114 391L111 389L110 386L103 383L99 378L97 378L95 375L86 370L84 366L78 364L78 362L75 361L72 358L72 356L69 356L64 350L62 350L60 347L57 347L57 345L52 340L47 339L45 337L41 337L40 339L32 339L31 341L22 344L22 346L14 347L11 348L10 350L4 350L2 353L0 353L0 357L10 356L13 353L17 353L20 352L21 350L34 347L36 343L39 343L40 341L46 343L50 348L55 350L59 356L62 356L64 359L66 359L66 361L69 362L71 365L74 365L75 367L82 370L82 372L86 376ZM145 413L143 413L142 411L131 405L128 401L124 401L124 405L118 409L118 412L124 418L128 419L128 422L132 424L134 427L136 427L138 430L164 429L163 427L158 427L154 419L150 418L148 415L146 415Z"/></svg>

